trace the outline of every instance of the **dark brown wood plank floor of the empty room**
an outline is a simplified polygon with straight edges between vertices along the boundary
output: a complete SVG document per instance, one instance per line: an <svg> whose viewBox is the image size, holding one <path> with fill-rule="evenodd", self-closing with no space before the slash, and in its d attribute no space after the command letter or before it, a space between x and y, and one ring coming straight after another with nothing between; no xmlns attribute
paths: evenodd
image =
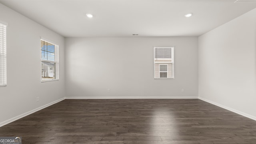
<svg viewBox="0 0 256 144"><path fill-rule="evenodd" d="M256 144L256 121L198 99L63 100L2 126L22 144Z"/></svg>

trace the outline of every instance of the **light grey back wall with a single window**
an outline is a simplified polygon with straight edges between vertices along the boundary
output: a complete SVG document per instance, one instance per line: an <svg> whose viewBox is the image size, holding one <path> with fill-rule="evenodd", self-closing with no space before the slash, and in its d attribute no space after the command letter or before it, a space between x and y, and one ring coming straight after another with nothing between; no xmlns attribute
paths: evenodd
<svg viewBox="0 0 256 144"><path fill-rule="evenodd" d="M65 41L67 97L198 97L196 37L66 38ZM154 80L154 46L174 45L175 79ZM182 88L185 92L181 92Z"/></svg>

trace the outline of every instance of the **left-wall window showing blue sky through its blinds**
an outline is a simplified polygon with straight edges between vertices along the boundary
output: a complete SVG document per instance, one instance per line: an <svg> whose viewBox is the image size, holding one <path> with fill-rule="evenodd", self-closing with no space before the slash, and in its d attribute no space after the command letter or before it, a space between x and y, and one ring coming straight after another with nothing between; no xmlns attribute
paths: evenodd
<svg viewBox="0 0 256 144"><path fill-rule="evenodd" d="M59 79L59 46L41 39L41 82Z"/></svg>

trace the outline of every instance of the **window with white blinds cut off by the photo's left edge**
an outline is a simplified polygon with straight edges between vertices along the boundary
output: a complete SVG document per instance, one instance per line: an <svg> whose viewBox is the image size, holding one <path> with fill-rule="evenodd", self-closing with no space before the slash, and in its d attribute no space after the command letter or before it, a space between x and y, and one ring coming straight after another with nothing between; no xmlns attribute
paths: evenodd
<svg viewBox="0 0 256 144"><path fill-rule="evenodd" d="M6 85L6 25L0 23L0 86Z"/></svg>

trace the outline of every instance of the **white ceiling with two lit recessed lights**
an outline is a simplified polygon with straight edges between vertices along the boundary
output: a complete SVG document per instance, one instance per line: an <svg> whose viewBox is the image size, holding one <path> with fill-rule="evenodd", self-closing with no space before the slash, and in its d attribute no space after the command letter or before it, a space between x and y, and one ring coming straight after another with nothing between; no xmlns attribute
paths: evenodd
<svg viewBox="0 0 256 144"><path fill-rule="evenodd" d="M200 36L256 0L0 0L65 37ZM193 16L186 18L186 13ZM87 18L86 13L94 15ZM138 37L138 36L137 36Z"/></svg>

